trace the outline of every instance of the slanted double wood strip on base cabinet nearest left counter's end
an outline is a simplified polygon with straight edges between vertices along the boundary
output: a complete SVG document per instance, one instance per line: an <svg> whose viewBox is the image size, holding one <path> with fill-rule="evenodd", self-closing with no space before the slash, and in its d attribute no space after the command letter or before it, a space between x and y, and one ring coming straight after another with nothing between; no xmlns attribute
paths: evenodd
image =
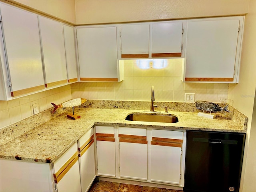
<svg viewBox="0 0 256 192"><path fill-rule="evenodd" d="M72 155L72 157L70 157L70 159L60 168L60 170L53 174L55 183L58 183L62 177L64 177L64 175L68 172L68 170L70 170L70 168L72 168L77 160L78 152Z"/></svg>

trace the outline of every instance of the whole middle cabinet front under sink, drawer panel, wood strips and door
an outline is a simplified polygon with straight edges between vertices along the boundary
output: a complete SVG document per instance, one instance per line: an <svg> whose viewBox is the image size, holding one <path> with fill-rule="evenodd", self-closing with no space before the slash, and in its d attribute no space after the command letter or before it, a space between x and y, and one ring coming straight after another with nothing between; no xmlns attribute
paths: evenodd
<svg viewBox="0 0 256 192"><path fill-rule="evenodd" d="M147 180L148 145L146 129L118 128L120 177Z"/></svg>

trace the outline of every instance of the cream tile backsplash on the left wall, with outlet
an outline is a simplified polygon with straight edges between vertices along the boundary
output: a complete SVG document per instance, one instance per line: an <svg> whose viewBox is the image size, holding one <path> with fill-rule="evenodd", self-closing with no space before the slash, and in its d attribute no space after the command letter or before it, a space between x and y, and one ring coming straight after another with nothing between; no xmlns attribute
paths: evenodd
<svg viewBox="0 0 256 192"><path fill-rule="evenodd" d="M0 101L0 128L32 116L33 104L38 103L40 112L71 99L70 85L39 92L10 101Z"/></svg>

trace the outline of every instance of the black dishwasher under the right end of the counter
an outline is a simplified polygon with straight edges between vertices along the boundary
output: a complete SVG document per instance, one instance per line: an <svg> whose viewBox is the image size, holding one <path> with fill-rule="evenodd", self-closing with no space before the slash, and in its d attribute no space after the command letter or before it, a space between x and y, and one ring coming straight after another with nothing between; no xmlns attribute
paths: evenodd
<svg viewBox="0 0 256 192"><path fill-rule="evenodd" d="M187 131L185 192L238 192L245 134Z"/></svg>

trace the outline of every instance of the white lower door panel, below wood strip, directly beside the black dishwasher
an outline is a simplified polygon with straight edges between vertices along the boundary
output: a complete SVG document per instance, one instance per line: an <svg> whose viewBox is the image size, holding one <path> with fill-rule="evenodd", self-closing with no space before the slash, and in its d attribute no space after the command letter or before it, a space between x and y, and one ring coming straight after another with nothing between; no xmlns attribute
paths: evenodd
<svg viewBox="0 0 256 192"><path fill-rule="evenodd" d="M181 148L151 145L151 180L180 184Z"/></svg>

